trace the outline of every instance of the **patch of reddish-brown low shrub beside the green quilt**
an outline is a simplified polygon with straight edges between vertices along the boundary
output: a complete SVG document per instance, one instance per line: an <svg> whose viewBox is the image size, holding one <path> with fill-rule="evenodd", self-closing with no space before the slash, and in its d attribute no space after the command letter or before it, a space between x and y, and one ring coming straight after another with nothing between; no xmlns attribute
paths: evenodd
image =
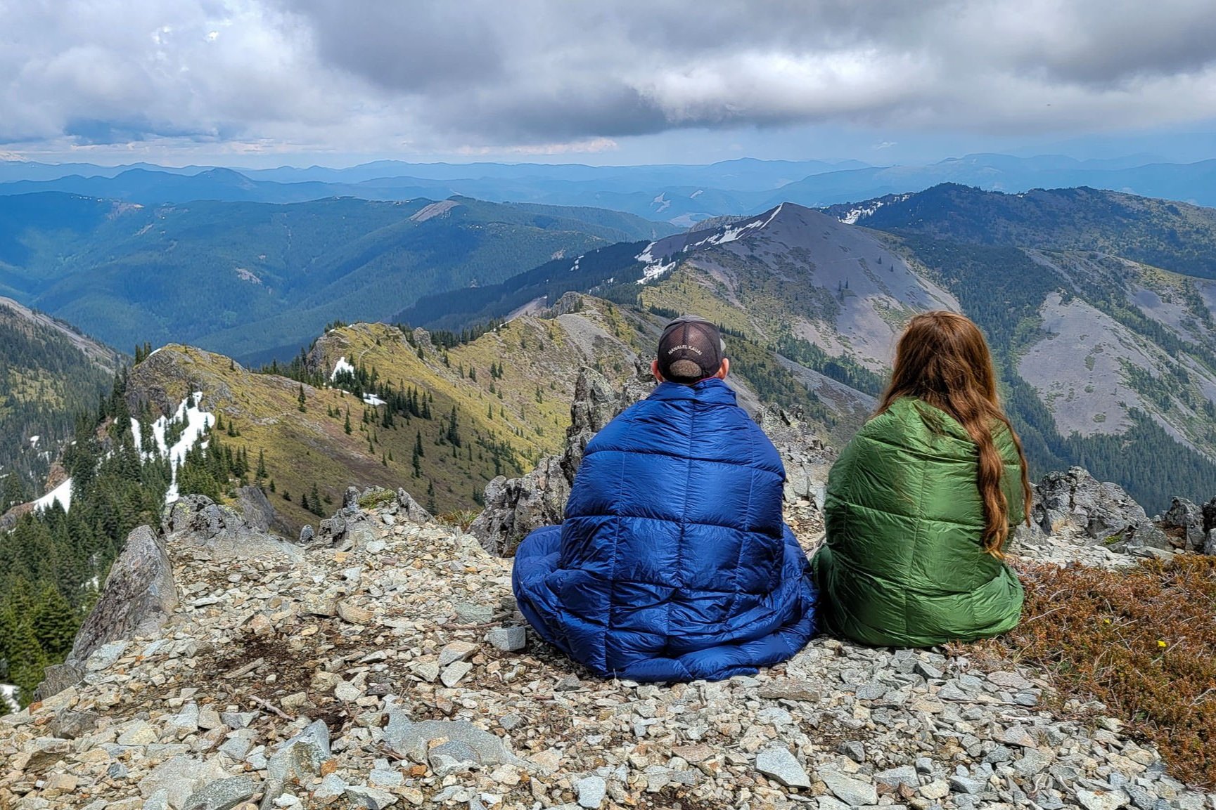
<svg viewBox="0 0 1216 810"><path fill-rule="evenodd" d="M1043 669L1064 695L1102 701L1175 777L1216 786L1216 557L1019 573L1024 619L983 646Z"/></svg>

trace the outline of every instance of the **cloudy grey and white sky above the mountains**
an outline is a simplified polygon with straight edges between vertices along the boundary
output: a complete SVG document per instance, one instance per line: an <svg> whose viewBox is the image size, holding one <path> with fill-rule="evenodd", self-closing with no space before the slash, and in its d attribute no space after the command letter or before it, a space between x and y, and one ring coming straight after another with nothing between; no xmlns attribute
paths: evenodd
<svg viewBox="0 0 1216 810"><path fill-rule="evenodd" d="M1214 132L1212 0L0 0L7 158L1193 160Z"/></svg>

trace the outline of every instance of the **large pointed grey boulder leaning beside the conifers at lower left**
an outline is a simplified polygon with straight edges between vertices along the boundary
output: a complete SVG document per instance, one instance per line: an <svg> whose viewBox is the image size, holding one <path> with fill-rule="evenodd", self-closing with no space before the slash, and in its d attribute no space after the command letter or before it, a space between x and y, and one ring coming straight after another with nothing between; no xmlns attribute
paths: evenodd
<svg viewBox="0 0 1216 810"><path fill-rule="evenodd" d="M80 625L67 663L79 665L111 641L151 635L164 627L176 608L178 587L169 555L152 528L140 526L128 534L123 553L109 568L101 596Z"/></svg>

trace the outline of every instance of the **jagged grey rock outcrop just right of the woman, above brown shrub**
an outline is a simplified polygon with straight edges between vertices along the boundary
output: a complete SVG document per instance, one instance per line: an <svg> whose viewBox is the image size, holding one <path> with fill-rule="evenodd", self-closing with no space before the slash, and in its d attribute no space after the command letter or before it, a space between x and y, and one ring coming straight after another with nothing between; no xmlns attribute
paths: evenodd
<svg viewBox="0 0 1216 810"><path fill-rule="evenodd" d="M1071 523L1114 551L1172 549L1170 538L1124 488L1098 481L1081 468L1049 472L1035 487L1031 520L1051 534Z"/></svg>

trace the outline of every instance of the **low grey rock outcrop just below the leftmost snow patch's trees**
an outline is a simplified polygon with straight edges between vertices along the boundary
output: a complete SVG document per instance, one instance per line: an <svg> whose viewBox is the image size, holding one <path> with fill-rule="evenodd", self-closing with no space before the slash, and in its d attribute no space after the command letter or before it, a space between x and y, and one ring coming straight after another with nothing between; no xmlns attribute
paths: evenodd
<svg viewBox="0 0 1216 810"><path fill-rule="evenodd" d="M257 520L264 517L255 516ZM294 543L269 534L235 509L221 506L207 495L185 495L165 506L161 527L167 544L204 551L213 557L282 556L292 562L304 559L303 549Z"/></svg>

